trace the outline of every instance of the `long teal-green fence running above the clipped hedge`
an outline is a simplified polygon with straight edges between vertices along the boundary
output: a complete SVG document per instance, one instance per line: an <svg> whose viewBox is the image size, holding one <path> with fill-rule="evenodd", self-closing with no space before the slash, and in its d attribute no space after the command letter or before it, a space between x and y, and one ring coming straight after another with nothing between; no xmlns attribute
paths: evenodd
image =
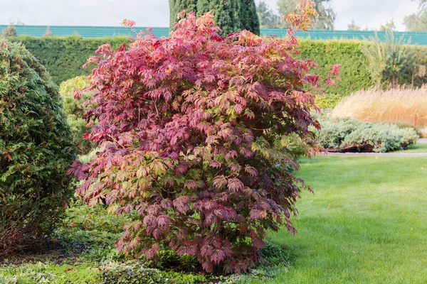
<svg viewBox="0 0 427 284"><path fill-rule="evenodd" d="M130 28L124 27L112 27L112 26L15 26L18 35L33 35L42 36L46 33L49 28L52 35L81 35L83 38L102 38L105 36L115 35L135 35ZM0 32L4 30L6 26L0 25ZM145 29L144 27L136 27L136 31ZM286 35L285 29L273 28L273 29L261 29L261 35L278 35L283 37ZM169 28L153 28L152 33L157 37L168 36ZM377 32L378 37L381 40L386 38L385 32ZM298 32L297 36L300 38L312 38L319 40L330 40L330 39L358 39L369 38L374 36L374 31L320 31L312 30L307 33ZM405 43L410 40L411 44L427 45L427 32L395 32L396 38L403 37Z"/></svg>

